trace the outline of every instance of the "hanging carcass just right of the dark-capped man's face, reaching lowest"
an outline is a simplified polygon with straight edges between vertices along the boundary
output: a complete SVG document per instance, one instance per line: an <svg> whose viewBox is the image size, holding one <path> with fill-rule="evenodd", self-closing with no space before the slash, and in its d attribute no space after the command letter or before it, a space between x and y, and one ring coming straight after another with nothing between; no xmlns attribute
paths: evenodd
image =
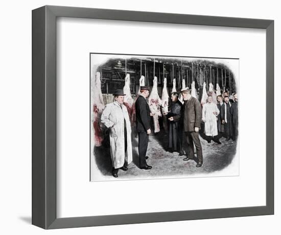
<svg viewBox="0 0 281 235"><path fill-rule="evenodd" d="M153 80L153 87L150 96L148 98L148 104L150 107L150 112L153 115L154 133L160 132L158 117L161 117L160 106L162 105L162 101L158 95L156 76L154 77Z"/></svg>

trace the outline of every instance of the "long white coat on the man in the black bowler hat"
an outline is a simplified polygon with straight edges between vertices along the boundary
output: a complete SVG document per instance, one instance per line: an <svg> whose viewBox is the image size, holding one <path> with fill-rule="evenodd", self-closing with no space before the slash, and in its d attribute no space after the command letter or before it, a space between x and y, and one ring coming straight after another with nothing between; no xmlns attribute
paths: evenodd
<svg viewBox="0 0 281 235"><path fill-rule="evenodd" d="M114 101L105 106L101 116L101 122L110 128L110 155L115 169L122 167L125 163L124 119L126 120L127 129L126 157L128 164L130 164L133 159L131 123L126 106L122 105L121 108L119 103Z"/></svg>

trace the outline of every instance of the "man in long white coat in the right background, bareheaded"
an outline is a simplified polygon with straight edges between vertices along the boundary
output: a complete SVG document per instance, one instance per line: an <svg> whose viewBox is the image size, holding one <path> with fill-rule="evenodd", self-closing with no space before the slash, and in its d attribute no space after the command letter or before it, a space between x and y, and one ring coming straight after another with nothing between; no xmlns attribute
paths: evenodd
<svg viewBox="0 0 281 235"><path fill-rule="evenodd" d="M217 105L213 102L213 97L208 96L208 101L203 105L202 108L202 121L205 122L205 135L208 143L213 139L216 143L221 144L218 138L218 124L217 116L220 111Z"/></svg>

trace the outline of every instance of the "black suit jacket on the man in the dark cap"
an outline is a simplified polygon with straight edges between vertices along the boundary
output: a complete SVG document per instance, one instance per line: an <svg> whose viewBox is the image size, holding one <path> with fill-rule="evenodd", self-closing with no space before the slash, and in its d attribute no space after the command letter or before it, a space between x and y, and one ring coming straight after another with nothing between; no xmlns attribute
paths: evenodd
<svg viewBox="0 0 281 235"><path fill-rule="evenodd" d="M139 95L135 102L136 130L147 131L151 128L149 105L144 96Z"/></svg>

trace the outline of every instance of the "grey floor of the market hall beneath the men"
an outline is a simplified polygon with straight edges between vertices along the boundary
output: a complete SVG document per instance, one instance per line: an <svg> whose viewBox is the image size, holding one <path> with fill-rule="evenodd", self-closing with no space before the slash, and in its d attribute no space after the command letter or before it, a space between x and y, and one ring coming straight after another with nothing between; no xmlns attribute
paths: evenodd
<svg viewBox="0 0 281 235"><path fill-rule="evenodd" d="M138 167L138 139L135 136L132 138L133 162L127 166L127 171L119 170L118 179L196 177L196 174L202 175L221 171L231 164L233 158L238 158L236 154L237 141L231 139L226 141L226 138L222 137L220 139L222 144L214 141L208 143L203 139L204 134L201 132L203 165L197 168L195 167L195 161L183 161L186 157L185 155L179 156L178 152L171 153L167 151L168 135L161 130L159 133L149 136L146 155L149 156L147 164L152 166L152 169L143 170ZM101 174L106 178L110 177L109 179L112 180L109 143L101 147L95 147L95 162Z"/></svg>

